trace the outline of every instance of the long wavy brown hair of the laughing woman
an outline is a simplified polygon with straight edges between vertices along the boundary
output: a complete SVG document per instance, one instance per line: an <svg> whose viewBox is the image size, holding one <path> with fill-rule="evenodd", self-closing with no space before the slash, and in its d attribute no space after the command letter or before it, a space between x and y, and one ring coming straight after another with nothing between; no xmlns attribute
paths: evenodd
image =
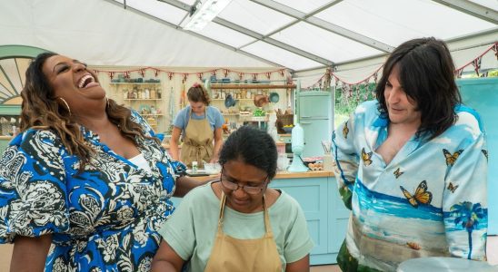
<svg viewBox="0 0 498 272"><path fill-rule="evenodd" d="M88 145L73 116L65 105L54 98L54 88L43 73L45 61L56 53L41 53L26 70L25 87L21 92L21 131L30 128L55 131L67 151L80 160L80 170L90 162L94 150ZM135 137L146 137L139 124L131 120L131 111L109 99L105 112L111 122L120 128L124 137L136 142Z"/></svg>

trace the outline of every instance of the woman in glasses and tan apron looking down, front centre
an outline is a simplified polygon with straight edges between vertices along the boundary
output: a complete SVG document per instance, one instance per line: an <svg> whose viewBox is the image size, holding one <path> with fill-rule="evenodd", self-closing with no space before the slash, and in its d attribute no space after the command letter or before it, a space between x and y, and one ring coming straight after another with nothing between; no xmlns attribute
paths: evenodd
<svg viewBox="0 0 498 272"><path fill-rule="evenodd" d="M159 233L153 271L309 271L314 247L291 196L268 188L276 173L274 140L244 126L220 152L219 181L187 194ZM188 263L187 263L188 262Z"/></svg>

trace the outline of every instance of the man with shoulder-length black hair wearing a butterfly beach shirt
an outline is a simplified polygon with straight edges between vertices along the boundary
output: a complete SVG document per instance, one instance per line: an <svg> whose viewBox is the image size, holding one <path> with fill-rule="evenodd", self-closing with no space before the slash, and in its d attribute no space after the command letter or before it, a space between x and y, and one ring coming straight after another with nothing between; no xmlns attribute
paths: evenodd
<svg viewBox="0 0 498 272"><path fill-rule="evenodd" d="M344 271L394 271L413 257L486 259L487 150L442 41L399 45L376 100L334 131L335 175L352 209Z"/></svg>

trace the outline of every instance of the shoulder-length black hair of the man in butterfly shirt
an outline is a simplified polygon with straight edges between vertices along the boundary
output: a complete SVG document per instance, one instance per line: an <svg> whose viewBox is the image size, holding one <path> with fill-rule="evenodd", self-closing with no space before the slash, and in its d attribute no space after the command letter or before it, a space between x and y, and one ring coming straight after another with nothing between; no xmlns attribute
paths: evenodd
<svg viewBox="0 0 498 272"><path fill-rule="evenodd" d="M417 136L430 133L433 139L457 120L454 108L462 97L454 81L452 55L443 41L433 37L413 39L393 51L383 66L383 75L375 89L379 112L388 118L383 91L394 66L406 95L417 103L421 124Z"/></svg>

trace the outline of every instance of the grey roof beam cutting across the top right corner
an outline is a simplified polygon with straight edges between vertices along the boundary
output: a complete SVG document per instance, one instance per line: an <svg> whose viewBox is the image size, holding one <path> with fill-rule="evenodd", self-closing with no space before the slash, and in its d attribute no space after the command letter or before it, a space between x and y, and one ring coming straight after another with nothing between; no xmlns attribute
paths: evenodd
<svg viewBox="0 0 498 272"><path fill-rule="evenodd" d="M498 24L498 12L492 8L463 0L433 0L433 2L446 5L467 15L472 15L484 21Z"/></svg>

